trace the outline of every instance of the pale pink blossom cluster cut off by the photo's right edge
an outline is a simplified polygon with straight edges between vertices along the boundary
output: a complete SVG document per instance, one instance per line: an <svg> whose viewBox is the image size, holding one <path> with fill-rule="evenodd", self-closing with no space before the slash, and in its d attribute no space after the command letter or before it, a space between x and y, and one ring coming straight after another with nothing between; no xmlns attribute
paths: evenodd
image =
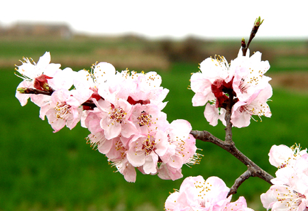
<svg viewBox="0 0 308 211"><path fill-rule="evenodd" d="M303 211L308 207L308 154L300 146L272 146L270 164L278 168L270 189L261 195L264 208Z"/></svg>

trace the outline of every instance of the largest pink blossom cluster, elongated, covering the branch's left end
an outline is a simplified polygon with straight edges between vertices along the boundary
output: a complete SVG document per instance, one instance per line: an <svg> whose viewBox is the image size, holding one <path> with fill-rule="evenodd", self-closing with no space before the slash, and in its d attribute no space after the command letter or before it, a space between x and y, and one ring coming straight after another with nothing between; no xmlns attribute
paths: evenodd
<svg viewBox="0 0 308 211"><path fill-rule="evenodd" d="M37 64L25 58L17 66L24 81L16 97L21 105L30 97L40 106L40 118L47 116L54 132L65 125L72 129L81 121L91 133L88 143L105 154L128 182L136 181L136 168L175 180L183 176L183 164L198 162L190 123L168 123L162 112L168 89L160 86L157 73L118 72L107 62L94 64L92 71L75 72L61 70L50 60L47 52Z"/></svg>

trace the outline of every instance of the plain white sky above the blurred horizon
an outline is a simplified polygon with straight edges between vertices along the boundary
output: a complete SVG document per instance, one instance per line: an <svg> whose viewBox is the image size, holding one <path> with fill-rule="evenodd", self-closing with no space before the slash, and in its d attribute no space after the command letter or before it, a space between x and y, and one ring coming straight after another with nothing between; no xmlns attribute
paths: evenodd
<svg viewBox="0 0 308 211"><path fill-rule="evenodd" d="M258 37L308 38L307 5L307 0L3 0L0 24L60 22L88 34L248 39L261 16L265 20Z"/></svg>

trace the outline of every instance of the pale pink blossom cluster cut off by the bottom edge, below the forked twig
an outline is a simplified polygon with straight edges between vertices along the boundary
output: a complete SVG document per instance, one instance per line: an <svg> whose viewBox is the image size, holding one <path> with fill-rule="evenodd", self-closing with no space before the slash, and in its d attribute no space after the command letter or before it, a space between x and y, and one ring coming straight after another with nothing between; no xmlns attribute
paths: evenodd
<svg viewBox="0 0 308 211"><path fill-rule="evenodd" d="M228 193L229 188L218 177L186 177L179 190L167 198L165 210L252 211L244 197L230 202L232 195L227 198Z"/></svg>

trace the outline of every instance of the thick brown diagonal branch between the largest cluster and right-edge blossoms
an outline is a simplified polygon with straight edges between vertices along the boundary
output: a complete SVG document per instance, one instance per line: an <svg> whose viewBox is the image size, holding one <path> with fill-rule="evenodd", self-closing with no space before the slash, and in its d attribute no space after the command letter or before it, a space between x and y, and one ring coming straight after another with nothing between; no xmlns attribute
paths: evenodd
<svg viewBox="0 0 308 211"><path fill-rule="evenodd" d="M221 147L222 149L231 153L233 156L235 156L235 158L238 158L240 162L245 164L245 166L248 166L248 169L251 169L249 170L249 172L251 173L250 177L259 177L260 179L263 179L269 184L272 184L272 182L270 182L270 179L273 179L274 177L272 177L272 175L270 175L269 173L261 169L252 160L247 158L247 156L245 156L240 150L238 150L238 148L235 147L235 143L233 141L226 142L226 141L220 140L219 138L216 138L215 136L213 136L207 131L192 130L190 134L192 134L192 136L194 136L194 138L198 140L202 140L204 142L212 142L218 147Z"/></svg>

